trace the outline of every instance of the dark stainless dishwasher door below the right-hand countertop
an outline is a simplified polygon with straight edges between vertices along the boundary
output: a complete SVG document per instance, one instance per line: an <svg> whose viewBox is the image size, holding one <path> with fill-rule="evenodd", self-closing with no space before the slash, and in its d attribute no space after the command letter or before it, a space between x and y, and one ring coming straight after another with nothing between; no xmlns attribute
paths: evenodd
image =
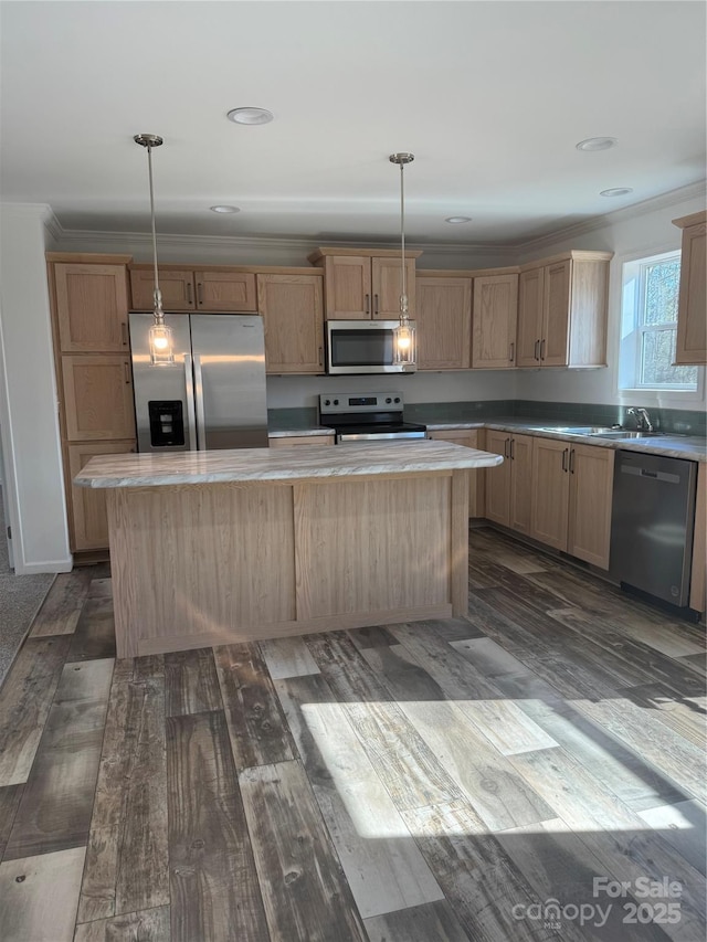
<svg viewBox="0 0 707 942"><path fill-rule="evenodd" d="M697 464L643 452L616 452L611 516L611 574L686 606L695 526Z"/></svg>

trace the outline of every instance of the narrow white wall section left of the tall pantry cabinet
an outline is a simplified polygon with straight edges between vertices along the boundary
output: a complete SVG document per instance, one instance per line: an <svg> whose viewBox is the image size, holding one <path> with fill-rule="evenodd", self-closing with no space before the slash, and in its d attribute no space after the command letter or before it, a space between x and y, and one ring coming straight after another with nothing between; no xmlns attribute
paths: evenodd
<svg viewBox="0 0 707 942"><path fill-rule="evenodd" d="M71 569L44 252L49 208L2 207L0 428L18 574Z"/></svg>

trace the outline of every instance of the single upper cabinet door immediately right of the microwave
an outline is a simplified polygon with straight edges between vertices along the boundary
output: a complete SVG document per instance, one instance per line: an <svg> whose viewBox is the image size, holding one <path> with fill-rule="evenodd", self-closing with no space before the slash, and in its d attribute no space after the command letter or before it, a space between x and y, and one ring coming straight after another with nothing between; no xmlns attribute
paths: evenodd
<svg viewBox="0 0 707 942"><path fill-rule="evenodd" d="M468 370L472 279L415 279L419 370Z"/></svg>

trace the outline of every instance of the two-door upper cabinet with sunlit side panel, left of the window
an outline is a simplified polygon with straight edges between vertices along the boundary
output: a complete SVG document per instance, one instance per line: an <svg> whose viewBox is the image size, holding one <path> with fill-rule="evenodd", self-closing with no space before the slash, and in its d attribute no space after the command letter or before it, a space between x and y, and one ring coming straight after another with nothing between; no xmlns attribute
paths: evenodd
<svg viewBox="0 0 707 942"><path fill-rule="evenodd" d="M521 266L516 366L606 366L611 258L572 251Z"/></svg>

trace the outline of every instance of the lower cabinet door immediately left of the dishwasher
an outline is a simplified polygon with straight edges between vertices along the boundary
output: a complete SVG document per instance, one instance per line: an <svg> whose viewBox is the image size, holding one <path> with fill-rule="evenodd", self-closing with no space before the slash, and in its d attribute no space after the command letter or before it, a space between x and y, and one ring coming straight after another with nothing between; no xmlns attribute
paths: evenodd
<svg viewBox="0 0 707 942"><path fill-rule="evenodd" d="M567 551L601 569L609 569L614 451L597 445L572 445L569 472Z"/></svg>

